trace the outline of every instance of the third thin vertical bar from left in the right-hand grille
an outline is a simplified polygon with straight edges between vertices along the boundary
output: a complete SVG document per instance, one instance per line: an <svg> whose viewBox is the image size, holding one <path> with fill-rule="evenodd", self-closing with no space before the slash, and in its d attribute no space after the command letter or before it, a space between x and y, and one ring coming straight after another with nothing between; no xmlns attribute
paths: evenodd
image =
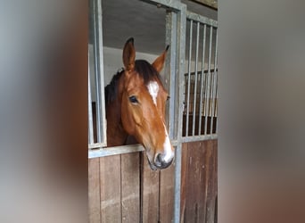
<svg viewBox="0 0 305 223"><path fill-rule="evenodd" d="M204 63L205 63L205 39L206 39L206 29L207 25L203 26L203 43L202 43L202 79L201 79L201 89L200 89L200 108L199 108L199 127L198 132L199 135L202 134L202 98L204 100L203 90L205 89L205 75L204 75ZM204 85L203 85L204 80Z"/></svg>

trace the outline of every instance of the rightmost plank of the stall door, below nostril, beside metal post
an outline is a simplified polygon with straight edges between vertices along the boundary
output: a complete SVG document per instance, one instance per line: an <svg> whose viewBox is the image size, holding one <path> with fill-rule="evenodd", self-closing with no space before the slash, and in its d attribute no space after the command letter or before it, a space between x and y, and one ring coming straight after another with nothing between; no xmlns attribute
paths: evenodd
<svg viewBox="0 0 305 223"><path fill-rule="evenodd" d="M160 222L170 223L174 220L174 163L160 171Z"/></svg>

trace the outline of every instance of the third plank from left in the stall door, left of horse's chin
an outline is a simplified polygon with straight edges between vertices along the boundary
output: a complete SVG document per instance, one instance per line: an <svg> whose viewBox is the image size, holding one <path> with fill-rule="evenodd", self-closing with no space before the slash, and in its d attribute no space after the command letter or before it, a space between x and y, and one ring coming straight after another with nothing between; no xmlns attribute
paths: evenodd
<svg viewBox="0 0 305 223"><path fill-rule="evenodd" d="M140 153L121 155L122 222L140 222Z"/></svg>

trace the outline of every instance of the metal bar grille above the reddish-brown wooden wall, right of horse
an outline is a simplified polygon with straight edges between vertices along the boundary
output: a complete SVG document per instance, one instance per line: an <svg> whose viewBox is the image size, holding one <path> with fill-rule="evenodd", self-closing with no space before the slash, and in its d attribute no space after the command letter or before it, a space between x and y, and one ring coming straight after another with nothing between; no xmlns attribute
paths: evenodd
<svg viewBox="0 0 305 223"><path fill-rule="evenodd" d="M194 24L196 35L193 31ZM185 73L183 141L185 137L216 134L218 119L217 22L187 12L186 29L188 55L185 58L187 72ZM201 71L198 67L201 67Z"/></svg>

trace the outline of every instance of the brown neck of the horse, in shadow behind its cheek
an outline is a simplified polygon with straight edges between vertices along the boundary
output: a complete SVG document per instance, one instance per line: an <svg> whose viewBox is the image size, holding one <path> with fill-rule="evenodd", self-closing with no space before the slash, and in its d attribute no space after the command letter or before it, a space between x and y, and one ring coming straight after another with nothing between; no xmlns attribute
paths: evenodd
<svg viewBox="0 0 305 223"><path fill-rule="evenodd" d="M125 145L128 138L128 133L121 122L120 98L120 96L117 96L113 102L106 105L108 146Z"/></svg>

